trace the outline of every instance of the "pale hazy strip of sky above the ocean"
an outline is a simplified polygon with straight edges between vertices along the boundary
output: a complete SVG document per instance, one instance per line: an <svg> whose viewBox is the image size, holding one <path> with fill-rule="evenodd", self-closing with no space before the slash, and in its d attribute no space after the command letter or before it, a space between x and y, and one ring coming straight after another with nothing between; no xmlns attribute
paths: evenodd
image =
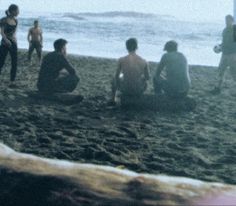
<svg viewBox="0 0 236 206"><path fill-rule="evenodd" d="M203 20L233 13L233 0L0 0L0 8L11 3L18 4L21 12L136 11Z"/></svg>

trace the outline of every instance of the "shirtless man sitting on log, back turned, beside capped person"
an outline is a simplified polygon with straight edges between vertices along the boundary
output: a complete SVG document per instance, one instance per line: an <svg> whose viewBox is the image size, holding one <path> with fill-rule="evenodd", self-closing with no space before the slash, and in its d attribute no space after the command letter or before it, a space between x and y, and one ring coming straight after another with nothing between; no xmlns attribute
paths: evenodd
<svg viewBox="0 0 236 206"><path fill-rule="evenodd" d="M117 91L125 96L140 96L147 88L149 80L148 63L136 54L138 42L135 38L126 41L128 55L118 60L118 68L112 81L111 103L116 103Z"/></svg>

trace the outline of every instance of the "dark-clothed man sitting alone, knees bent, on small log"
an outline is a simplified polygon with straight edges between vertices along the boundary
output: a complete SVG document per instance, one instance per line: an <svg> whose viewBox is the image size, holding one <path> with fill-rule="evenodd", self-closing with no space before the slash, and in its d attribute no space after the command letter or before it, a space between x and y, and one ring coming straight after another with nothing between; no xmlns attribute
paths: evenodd
<svg viewBox="0 0 236 206"><path fill-rule="evenodd" d="M65 39L54 42L55 51L48 53L42 60L37 87L46 95L72 92L79 82L75 69L66 58Z"/></svg>

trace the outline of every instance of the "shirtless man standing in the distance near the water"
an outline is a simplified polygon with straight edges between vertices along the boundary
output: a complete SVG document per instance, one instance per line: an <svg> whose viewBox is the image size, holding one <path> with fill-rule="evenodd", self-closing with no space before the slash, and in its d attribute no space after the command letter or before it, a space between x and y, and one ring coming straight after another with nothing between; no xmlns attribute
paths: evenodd
<svg viewBox="0 0 236 206"><path fill-rule="evenodd" d="M29 42L28 61L31 62L31 56L35 49L37 52L39 62L41 62L43 35L42 35L42 29L39 27L38 20L35 20L34 26L29 29L27 40Z"/></svg>

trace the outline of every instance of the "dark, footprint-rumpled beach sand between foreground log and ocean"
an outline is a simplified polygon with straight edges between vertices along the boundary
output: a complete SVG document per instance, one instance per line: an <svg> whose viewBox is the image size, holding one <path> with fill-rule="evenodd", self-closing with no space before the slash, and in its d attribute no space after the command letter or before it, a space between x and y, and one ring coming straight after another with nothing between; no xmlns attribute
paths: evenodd
<svg viewBox="0 0 236 206"><path fill-rule="evenodd" d="M236 184L236 96L229 76L223 93L213 96L216 69L192 66L193 112L125 111L107 106L116 60L70 56L81 77L75 94L85 100L65 106L28 98L39 67L26 59L21 51L19 88L7 87L9 62L0 76L4 144L43 157ZM156 64L150 67L153 73Z"/></svg>

